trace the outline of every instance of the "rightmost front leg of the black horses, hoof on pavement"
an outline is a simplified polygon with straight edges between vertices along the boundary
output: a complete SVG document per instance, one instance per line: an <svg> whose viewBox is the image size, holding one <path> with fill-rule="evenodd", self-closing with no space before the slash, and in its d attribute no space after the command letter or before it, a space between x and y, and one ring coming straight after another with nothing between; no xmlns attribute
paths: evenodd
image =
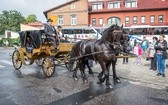
<svg viewBox="0 0 168 105"><path fill-rule="evenodd" d="M116 75L116 62L117 59L115 59L114 61L112 61L112 70L113 70L113 80L116 83L120 83L120 78Z"/></svg>

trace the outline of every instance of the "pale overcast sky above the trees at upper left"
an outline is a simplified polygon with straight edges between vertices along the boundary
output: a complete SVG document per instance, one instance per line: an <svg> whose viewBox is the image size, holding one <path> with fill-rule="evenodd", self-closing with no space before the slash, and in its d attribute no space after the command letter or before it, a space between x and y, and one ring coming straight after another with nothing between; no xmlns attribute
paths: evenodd
<svg viewBox="0 0 168 105"><path fill-rule="evenodd" d="M0 14L3 10L17 10L24 17L35 14L41 22L46 22L43 11L60 5L67 0L1 0Z"/></svg>

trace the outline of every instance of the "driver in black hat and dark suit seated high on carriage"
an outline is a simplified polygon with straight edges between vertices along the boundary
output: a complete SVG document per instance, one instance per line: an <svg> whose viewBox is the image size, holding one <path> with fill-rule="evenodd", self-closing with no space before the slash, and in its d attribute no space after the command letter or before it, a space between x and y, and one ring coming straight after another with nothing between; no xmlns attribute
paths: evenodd
<svg viewBox="0 0 168 105"><path fill-rule="evenodd" d="M55 49L58 49L58 35L55 27L52 25L53 20L48 19L47 24L44 24L45 34L54 42Z"/></svg>

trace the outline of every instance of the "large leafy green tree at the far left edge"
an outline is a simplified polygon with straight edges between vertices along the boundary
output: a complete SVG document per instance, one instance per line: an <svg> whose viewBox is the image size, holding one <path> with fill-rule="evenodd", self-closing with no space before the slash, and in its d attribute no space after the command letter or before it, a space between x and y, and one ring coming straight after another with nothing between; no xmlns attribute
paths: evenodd
<svg viewBox="0 0 168 105"><path fill-rule="evenodd" d="M2 11L0 14L0 35L4 35L5 30L19 31L20 23L24 21L22 14L16 10Z"/></svg>

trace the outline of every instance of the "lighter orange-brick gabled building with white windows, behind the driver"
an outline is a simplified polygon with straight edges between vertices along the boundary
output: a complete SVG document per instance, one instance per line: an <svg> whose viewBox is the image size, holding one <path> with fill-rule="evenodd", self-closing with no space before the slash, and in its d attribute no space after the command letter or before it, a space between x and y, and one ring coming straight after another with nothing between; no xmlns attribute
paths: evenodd
<svg viewBox="0 0 168 105"><path fill-rule="evenodd" d="M66 3L44 11L44 15L54 17L55 25L63 27L88 26L88 1L71 0Z"/></svg>

